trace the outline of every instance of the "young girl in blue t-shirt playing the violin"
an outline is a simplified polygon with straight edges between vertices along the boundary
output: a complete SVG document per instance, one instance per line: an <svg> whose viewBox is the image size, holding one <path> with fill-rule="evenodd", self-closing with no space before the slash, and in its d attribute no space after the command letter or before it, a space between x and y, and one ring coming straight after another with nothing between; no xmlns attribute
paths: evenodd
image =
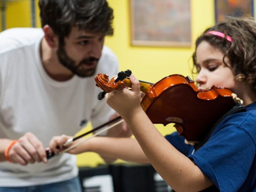
<svg viewBox="0 0 256 192"><path fill-rule="evenodd" d="M135 139L95 137L69 153L94 151L151 163L175 191L256 190L255 53L256 23L250 19L230 18L198 37L193 54L198 89L230 88L247 109L226 117L198 150L176 132L166 137L160 134L140 106L139 81L131 75L132 89L114 90L106 94L106 101L126 121ZM58 152L55 146L68 138L54 137L49 146Z"/></svg>

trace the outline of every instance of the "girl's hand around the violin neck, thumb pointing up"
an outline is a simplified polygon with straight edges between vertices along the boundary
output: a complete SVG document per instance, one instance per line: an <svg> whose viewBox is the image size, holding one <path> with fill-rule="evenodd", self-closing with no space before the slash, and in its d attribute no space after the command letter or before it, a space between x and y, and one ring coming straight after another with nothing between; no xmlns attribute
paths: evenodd
<svg viewBox="0 0 256 192"><path fill-rule="evenodd" d="M132 89L114 90L106 94L106 102L122 117L143 110L140 106L140 84L133 74L129 77Z"/></svg>

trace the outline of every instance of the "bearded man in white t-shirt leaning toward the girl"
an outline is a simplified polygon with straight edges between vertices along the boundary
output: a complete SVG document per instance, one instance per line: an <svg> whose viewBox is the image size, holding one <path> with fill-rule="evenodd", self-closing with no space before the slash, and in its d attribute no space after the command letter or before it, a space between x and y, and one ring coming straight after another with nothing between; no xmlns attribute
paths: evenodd
<svg viewBox="0 0 256 192"><path fill-rule="evenodd" d="M80 191L75 156L48 161L45 147L54 135L74 135L89 120L96 127L114 113L97 100L94 82L97 73L118 73L103 46L113 34L106 0L40 0L39 7L43 30L0 33L0 192Z"/></svg>

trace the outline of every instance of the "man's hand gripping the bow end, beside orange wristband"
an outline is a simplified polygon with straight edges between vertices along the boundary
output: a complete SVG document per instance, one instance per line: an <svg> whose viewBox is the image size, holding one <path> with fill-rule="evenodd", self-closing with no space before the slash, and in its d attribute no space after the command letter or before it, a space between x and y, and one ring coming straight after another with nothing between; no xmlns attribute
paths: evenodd
<svg viewBox="0 0 256 192"><path fill-rule="evenodd" d="M43 144L30 132L20 137L17 142L11 146L8 155L11 162L21 165L41 161L47 163Z"/></svg>

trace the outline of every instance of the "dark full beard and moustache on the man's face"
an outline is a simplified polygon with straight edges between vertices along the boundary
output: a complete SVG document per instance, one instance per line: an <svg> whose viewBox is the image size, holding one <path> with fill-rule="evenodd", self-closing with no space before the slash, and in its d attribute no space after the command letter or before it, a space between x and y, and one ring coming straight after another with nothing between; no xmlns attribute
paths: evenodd
<svg viewBox="0 0 256 192"><path fill-rule="evenodd" d="M76 65L75 61L71 59L66 53L64 46L61 46L61 45L58 48L57 55L58 55L59 62L63 66L68 68L70 71L72 71L73 74L78 75L79 77L82 77L82 78L89 77L95 74L96 67L92 69L84 69L84 68L79 69L79 67L83 64L90 64L94 61L98 62L99 59L95 57L88 57L81 60L79 64Z"/></svg>

